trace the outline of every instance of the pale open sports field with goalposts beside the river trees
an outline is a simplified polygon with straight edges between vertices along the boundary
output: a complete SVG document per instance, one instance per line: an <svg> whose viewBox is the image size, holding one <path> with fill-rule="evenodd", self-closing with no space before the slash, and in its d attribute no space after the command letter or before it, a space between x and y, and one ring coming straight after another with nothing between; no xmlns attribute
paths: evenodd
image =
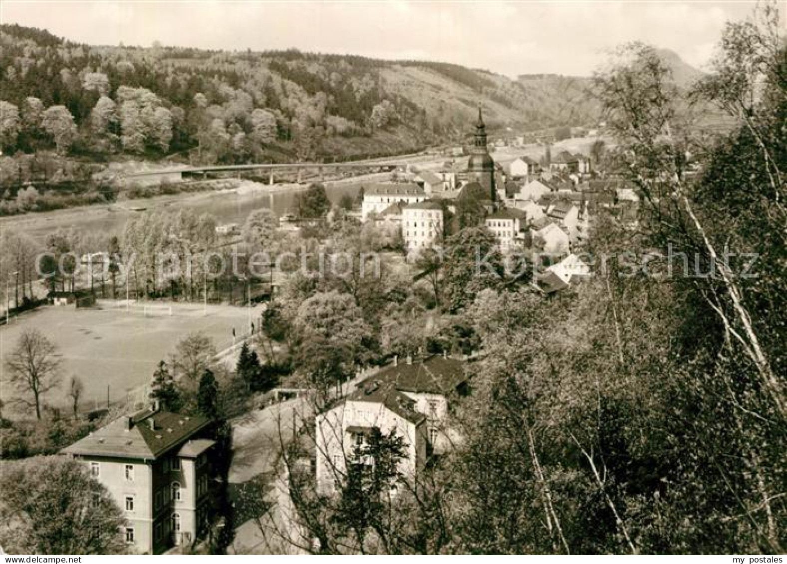
<svg viewBox="0 0 787 564"><path fill-rule="evenodd" d="M75 374L84 382L83 404L90 408L106 404L107 386L110 400L115 401L150 382L159 360L192 331L211 337L217 350L232 345L233 327L238 337L246 331L246 308L209 305L208 315L203 315L199 304L172 304L172 313L145 317L122 309L46 306L20 315L9 326L0 327L0 398L7 403L13 397L5 359L24 330L41 331L61 355L61 389L47 394L45 403L68 405L66 387ZM259 306L252 309L255 324L260 313Z"/></svg>

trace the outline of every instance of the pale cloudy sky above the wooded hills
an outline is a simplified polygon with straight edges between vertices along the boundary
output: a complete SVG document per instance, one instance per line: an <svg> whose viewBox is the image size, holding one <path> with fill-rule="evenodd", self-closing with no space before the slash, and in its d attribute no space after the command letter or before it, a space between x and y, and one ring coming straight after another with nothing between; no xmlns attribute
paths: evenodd
<svg viewBox="0 0 787 564"><path fill-rule="evenodd" d="M787 12L787 0L778 0ZM640 40L703 68L736 2L39 2L0 0L0 23L101 45L296 48L446 61L506 76L589 76L608 50Z"/></svg>

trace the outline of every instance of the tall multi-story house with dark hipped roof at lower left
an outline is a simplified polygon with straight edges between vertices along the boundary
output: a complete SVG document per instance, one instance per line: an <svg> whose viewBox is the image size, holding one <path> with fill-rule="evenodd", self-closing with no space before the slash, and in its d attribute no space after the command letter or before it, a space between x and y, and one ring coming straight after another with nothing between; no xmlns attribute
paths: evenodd
<svg viewBox="0 0 787 564"><path fill-rule="evenodd" d="M129 550L161 554L198 539L209 522L210 421L150 407L63 449L83 461L124 512Z"/></svg>

